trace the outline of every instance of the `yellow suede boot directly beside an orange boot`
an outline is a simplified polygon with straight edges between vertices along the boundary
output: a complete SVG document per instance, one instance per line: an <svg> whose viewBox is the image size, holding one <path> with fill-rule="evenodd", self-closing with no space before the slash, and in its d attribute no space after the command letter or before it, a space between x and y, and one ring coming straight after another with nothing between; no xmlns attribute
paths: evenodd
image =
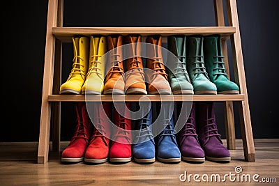
<svg viewBox="0 0 279 186"><path fill-rule="evenodd" d="M105 36L90 37L89 69L86 75L82 94L101 94L104 89L105 59L107 38Z"/></svg>

